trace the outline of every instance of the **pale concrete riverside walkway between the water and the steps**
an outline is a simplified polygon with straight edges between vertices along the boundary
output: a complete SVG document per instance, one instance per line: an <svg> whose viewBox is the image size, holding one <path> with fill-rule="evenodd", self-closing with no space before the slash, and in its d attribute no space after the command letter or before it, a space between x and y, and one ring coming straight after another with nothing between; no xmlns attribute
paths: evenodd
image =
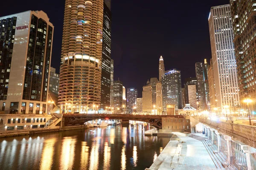
<svg viewBox="0 0 256 170"><path fill-rule="evenodd" d="M216 170L201 141L175 133L181 141L170 141L149 170ZM181 146L180 146L181 145ZM186 150L186 152L185 152ZM180 154L181 153L181 154Z"/></svg>

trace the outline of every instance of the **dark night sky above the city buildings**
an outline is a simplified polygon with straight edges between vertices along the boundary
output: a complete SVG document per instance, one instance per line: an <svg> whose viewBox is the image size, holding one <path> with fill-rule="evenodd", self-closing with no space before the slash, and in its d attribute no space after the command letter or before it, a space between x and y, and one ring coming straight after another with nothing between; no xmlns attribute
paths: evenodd
<svg viewBox="0 0 256 170"><path fill-rule="evenodd" d="M137 88L158 78L163 56L165 69L176 68L181 78L195 77L195 62L211 58L208 17L211 6L229 0L112 0L114 80ZM0 17L43 10L54 25L52 67L59 71L65 0L4 0Z"/></svg>

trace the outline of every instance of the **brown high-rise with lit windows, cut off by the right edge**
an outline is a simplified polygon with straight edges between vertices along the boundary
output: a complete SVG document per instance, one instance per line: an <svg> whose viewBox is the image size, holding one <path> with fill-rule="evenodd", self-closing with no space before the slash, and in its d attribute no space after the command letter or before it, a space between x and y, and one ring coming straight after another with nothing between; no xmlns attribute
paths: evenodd
<svg viewBox="0 0 256 170"><path fill-rule="evenodd" d="M240 99L256 100L255 0L230 0ZM232 58L233 59L233 58ZM238 104L236 102L236 104Z"/></svg>

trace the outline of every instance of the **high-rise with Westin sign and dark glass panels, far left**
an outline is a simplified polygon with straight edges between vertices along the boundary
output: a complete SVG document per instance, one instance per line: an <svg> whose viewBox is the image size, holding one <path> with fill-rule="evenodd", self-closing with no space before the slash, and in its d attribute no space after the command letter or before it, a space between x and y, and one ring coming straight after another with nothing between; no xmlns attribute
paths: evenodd
<svg viewBox="0 0 256 170"><path fill-rule="evenodd" d="M6 113L46 113L53 25L44 11L0 17L0 106Z"/></svg>

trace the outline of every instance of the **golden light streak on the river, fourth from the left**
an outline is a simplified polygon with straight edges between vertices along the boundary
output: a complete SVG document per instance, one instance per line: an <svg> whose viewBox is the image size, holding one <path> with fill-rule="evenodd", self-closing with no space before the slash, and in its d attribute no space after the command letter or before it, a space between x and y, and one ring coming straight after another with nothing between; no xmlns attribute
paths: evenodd
<svg viewBox="0 0 256 170"><path fill-rule="evenodd" d="M89 170L97 170L99 167L99 144L94 141L90 152L90 168Z"/></svg>

